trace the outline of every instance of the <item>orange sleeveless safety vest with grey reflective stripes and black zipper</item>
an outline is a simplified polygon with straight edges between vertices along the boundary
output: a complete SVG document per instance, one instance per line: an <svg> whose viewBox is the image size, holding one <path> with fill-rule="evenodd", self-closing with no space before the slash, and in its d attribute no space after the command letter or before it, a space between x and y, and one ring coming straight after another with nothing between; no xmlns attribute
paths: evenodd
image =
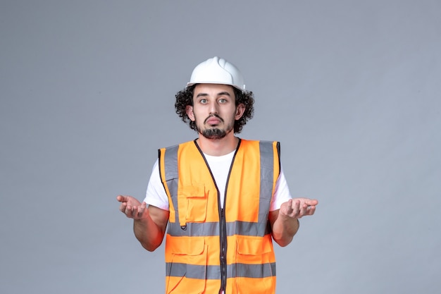
<svg viewBox="0 0 441 294"><path fill-rule="evenodd" d="M279 142L240 140L225 195L196 141L160 149L159 171L170 207L166 293L275 293L268 214Z"/></svg>

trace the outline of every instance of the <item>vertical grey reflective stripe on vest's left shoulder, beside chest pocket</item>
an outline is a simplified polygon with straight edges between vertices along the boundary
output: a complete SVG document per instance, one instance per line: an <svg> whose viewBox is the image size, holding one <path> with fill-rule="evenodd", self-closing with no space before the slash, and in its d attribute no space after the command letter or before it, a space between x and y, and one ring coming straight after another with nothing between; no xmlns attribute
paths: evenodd
<svg viewBox="0 0 441 294"><path fill-rule="evenodd" d="M170 191L171 201L175 207L175 222L179 223L178 212L178 149L179 145L168 147L164 156L165 173L168 190ZM161 166L161 164L159 164Z"/></svg>

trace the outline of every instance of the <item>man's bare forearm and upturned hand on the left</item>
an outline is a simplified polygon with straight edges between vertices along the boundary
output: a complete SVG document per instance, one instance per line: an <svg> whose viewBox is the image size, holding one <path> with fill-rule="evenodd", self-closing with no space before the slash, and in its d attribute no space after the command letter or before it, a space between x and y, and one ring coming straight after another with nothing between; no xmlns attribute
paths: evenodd
<svg viewBox="0 0 441 294"><path fill-rule="evenodd" d="M120 211L133 219L133 231L139 243L146 250L154 251L161 245L166 233L169 212L146 202L139 202L134 197L119 195Z"/></svg>

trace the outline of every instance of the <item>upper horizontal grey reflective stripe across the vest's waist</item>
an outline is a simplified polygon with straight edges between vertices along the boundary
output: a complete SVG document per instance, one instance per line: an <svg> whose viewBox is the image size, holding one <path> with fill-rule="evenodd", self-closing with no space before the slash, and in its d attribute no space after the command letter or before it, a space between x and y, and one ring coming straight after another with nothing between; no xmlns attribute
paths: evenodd
<svg viewBox="0 0 441 294"><path fill-rule="evenodd" d="M219 235L219 223L187 223L182 229L179 223L168 223L168 233L173 236L213 236ZM231 235L250 235L263 237L271 233L268 222L251 223L247 221L233 221L227 223L227 234Z"/></svg>

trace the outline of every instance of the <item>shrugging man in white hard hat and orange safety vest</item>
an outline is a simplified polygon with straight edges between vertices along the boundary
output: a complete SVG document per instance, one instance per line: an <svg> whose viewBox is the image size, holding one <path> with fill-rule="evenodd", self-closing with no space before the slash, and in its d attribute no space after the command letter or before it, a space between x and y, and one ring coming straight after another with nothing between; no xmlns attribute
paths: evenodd
<svg viewBox="0 0 441 294"><path fill-rule="evenodd" d="M235 66L200 63L175 103L197 139L159 150L144 202L117 197L145 249L168 224L166 293L275 293L272 240L288 245L315 212L317 200L292 199L278 142L235 136L253 104Z"/></svg>

